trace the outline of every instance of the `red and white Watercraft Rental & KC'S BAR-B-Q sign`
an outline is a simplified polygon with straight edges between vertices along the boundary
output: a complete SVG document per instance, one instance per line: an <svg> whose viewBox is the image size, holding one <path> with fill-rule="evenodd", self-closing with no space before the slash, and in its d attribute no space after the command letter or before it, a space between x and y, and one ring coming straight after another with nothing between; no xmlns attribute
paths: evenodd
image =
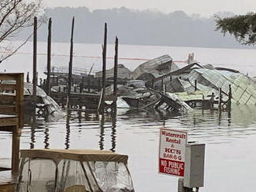
<svg viewBox="0 0 256 192"><path fill-rule="evenodd" d="M159 173L184 177L187 132L160 129Z"/></svg>

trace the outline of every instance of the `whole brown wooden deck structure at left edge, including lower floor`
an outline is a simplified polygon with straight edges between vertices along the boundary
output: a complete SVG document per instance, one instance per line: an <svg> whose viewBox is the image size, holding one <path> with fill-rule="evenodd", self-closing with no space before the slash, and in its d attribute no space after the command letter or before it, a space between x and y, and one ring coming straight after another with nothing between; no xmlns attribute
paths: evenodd
<svg viewBox="0 0 256 192"><path fill-rule="evenodd" d="M0 171L0 191L13 191L19 173L19 138L24 115L24 74L0 74L0 131L12 132L12 166ZM8 93L7 93L8 92ZM0 159L1 166L1 159Z"/></svg>

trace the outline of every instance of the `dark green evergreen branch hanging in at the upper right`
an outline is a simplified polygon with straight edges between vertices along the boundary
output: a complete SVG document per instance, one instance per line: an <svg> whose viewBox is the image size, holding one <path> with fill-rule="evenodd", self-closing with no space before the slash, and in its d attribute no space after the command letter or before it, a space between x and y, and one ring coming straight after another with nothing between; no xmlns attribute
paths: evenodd
<svg viewBox="0 0 256 192"><path fill-rule="evenodd" d="M233 35L237 41L244 45L256 43L256 14L249 12L246 15L235 15L230 18L220 18L215 15L216 30L220 30L224 36L227 33Z"/></svg>

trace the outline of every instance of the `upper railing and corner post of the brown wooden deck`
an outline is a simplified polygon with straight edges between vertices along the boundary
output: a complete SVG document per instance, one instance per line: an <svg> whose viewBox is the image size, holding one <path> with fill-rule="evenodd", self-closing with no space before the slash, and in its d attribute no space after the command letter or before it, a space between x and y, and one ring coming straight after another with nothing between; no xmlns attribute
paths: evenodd
<svg viewBox="0 0 256 192"><path fill-rule="evenodd" d="M24 118L23 95L24 74L0 74L0 131L12 132L12 173L18 173L19 170L19 137Z"/></svg>

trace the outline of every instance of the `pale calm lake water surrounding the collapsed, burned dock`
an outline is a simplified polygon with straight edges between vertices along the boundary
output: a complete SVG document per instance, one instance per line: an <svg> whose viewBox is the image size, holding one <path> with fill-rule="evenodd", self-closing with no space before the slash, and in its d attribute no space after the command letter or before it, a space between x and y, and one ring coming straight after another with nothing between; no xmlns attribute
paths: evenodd
<svg viewBox="0 0 256 192"><path fill-rule="evenodd" d="M46 53L46 43L39 43L38 53ZM113 57L113 45L108 46ZM53 44L53 63L67 66L69 45ZM101 46L74 45L74 67L94 71L101 69ZM119 60L131 70L142 60L169 54L174 60L186 60L189 53L202 63L218 67L232 67L250 76L256 76L256 50L206 49L171 46L119 46ZM26 44L16 55L2 63L0 70L32 74L32 43ZM86 56L86 57L85 57ZM89 56L89 57L88 57ZM108 60L108 68L113 60ZM179 64L179 63L178 63ZM182 64L181 64L182 65ZM39 76L43 76L46 56L38 57ZM256 180L256 107L232 106L231 113L194 110L185 114L160 115L157 112L130 111L119 108L116 120L102 122L96 115L71 115L46 122L30 117L22 130L21 148L57 149L111 149L129 155L129 167L136 191L177 191L178 178L157 173L159 128L189 131L189 141L206 143L205 187L207 192L240 192L254 190ZM65 112L66 113L66 112ZM68 118L67 118L68 117ZM11 135L0 132L0 157L11 156Z"/></svg>

